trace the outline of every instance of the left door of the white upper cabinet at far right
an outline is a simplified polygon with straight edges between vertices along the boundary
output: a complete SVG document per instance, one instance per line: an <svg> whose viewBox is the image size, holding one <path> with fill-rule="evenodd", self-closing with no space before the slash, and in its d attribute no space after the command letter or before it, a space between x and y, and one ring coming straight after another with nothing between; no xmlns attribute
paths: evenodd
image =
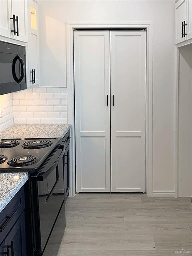
<svg viewBox="0 0 192 256"><path fill-rule="evenodd" d="M175 6L175 43L187 40L187 0L179 0Z"/></svg>

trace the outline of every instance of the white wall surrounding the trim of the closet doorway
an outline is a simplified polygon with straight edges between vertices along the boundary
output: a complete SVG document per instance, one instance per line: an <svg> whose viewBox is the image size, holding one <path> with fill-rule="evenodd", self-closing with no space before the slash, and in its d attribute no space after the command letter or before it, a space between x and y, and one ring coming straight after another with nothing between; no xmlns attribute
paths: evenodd
<svg viewBox="0 0 192 256"><path fill-rule="evenodd" d="M153 190L174 191L174 1L40 1L41 86L66 86L66 22L154 22Z"/></svg>

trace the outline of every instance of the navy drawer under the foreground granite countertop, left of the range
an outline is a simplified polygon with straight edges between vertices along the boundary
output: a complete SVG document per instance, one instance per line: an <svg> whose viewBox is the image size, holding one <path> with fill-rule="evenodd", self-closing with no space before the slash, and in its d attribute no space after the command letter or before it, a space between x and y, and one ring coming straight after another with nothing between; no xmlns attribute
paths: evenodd
<svg viewBox="0 0 192 256"><path fill-rule="evenodd" d="M0 213L0 241L8 234L25 209L24 187L22 187Z"/></svg>

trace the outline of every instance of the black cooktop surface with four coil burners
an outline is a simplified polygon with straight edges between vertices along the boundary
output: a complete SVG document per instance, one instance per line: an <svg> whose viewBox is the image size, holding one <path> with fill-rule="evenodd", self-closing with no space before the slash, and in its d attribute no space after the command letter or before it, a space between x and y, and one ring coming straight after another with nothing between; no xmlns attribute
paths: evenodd
<svg viewBox="0 0 192 256"><path fill-rule="evenodd" d="M0 140L0 172L38 172L61 138Z"/></svg>

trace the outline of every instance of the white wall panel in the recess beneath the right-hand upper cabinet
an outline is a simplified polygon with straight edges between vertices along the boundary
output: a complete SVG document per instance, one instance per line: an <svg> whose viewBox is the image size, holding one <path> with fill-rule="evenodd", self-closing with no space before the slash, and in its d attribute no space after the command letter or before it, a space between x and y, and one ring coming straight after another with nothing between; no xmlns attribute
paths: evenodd
<svg viewBox="0 0 192 256"><path fill-rule="evenodd" d="M178 195L192 195L192 45L179 50Z"/></svg>

